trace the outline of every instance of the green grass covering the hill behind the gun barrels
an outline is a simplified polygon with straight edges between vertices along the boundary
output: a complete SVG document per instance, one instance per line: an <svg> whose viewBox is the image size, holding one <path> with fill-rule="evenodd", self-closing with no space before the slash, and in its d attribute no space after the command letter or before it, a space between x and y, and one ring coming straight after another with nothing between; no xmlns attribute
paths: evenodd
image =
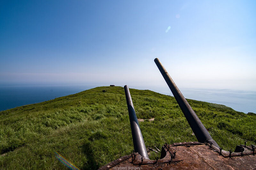
<svg viewBox="0 0 256 170"><path fill-rule="evenodd" d="M149 90L130 92L137 117L155 118L140 122L146 146L161 149L165 142L197 141L174 97ZM255 114L188 102L224 150L234 150L244 141L256 143ZM81 169L97 169L132 150L123 87L97 87L0 112L0 169L65 169L54 152Z"/></svg>

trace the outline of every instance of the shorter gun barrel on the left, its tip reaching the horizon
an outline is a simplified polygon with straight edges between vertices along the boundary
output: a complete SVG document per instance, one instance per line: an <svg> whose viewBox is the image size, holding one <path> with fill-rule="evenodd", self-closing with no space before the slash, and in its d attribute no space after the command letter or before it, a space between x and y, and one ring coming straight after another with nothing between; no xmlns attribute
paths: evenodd
<svg viewBox="0 0 256 170"><path fill-rule="evenodd" d="M134 106L132 103L131 94L127 85L124 86L124 92L125 92L125 97L126 97L126 102L127 102L128 112L129 112L134 151L138 152L142 157L149 159L148 152L140 131L140 125L139 125L139 122L134 110Z"/></svg>

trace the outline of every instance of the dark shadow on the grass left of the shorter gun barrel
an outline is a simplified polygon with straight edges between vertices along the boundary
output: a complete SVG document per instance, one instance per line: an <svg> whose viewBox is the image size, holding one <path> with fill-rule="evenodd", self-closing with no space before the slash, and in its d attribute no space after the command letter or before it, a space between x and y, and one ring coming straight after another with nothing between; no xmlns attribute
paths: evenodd
<svg viewBox="0 0 256 170"><path fill-rule="evenodd" d="M91 142L87 141L82 145L82 152L86 155L87 161L84 162L82 169L99 169L99 165L96 163Z"/></svg>

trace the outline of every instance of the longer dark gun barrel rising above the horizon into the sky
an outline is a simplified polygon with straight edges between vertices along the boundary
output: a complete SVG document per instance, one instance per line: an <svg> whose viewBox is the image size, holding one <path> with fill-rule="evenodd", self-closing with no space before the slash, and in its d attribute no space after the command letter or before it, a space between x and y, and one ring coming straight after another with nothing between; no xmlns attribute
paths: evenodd
<svg viewBox="0 0 256 170"><path fill-rule="evenodd" d="M168 74L168 72L165 70L162 63L159 61L158 58L155 58L155 63L160 70L161 74L164 77L164 80L166 81L167 85L172 91L173 96L177 100L181 111L183 112L184 116L186 117L191 129L193 130L198 142L204 143L206 140L208 140L208 143L211 143L220 148L219 145L212 139L209 132L205 129L203 123L200 121L200 119L197 117L194 110L191 108L191 106L188 104L188 101L185 99L185 97L182 95L178 87L173 82L172 78Z"/></svg>

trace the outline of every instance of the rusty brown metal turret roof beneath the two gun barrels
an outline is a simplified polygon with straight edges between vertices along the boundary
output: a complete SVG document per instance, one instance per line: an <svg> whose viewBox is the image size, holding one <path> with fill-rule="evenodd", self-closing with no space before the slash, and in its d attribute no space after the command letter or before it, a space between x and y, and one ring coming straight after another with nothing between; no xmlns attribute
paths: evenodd
<svg viewBox="0 0 256 170"><path fill-rule="evenodd" d="M241 145L244 147L244 145ZM132 153L102 166L100 170L116 169L256 169L256 156L252 148L230 153L199 142L164 144L161 158L158 160L143 159L140 154ZM142 159L141 159L142 158Z"/></svg>

